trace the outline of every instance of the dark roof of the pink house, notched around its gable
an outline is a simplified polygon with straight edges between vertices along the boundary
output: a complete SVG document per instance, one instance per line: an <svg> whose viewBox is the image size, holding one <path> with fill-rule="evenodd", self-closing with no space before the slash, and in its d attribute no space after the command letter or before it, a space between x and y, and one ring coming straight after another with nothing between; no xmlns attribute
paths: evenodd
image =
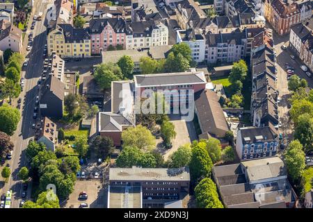
<svg viewBox="0 0 313 222"><path fill-rule="evenodd" d="M126 31L126 22L120 18L92 19L89 22L89 31L90 33L102 33L107 25L110 25L115 33L125 33Z"/></svg>

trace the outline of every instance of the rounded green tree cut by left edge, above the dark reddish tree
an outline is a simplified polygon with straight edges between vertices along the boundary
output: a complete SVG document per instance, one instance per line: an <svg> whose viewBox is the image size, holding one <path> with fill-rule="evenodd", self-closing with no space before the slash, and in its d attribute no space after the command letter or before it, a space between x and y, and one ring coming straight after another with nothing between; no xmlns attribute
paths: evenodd
<svg viewBox="0 0 313 222"><path fill-rule="evenodd" d="M0 131L13 135L19 119L19 110L10 107L8 104L0 106Z"/></svg>

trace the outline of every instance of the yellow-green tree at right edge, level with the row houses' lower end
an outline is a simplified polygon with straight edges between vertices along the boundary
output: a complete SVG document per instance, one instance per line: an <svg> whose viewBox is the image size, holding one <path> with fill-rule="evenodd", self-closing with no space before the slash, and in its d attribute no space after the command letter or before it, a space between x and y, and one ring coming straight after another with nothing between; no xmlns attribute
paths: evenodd
<svg viewBox="0 0 313 222"><path fill-rule="evenodd" d="M298 122L298 117L300 117L300 115L306 113L309 114L310 117L313 117L313 103L307 101L306 99L294 101L292 103L290 117L295 123Z"/></svg>

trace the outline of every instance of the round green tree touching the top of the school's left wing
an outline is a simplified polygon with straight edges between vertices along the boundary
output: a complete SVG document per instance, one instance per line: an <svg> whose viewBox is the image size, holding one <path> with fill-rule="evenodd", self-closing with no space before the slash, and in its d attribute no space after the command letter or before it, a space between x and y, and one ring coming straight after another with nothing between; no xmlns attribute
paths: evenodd
<svg viewBox="0 0 313 222"><path fill-rule="evenodd" d="M95 80L101 89L111 89L111 82L122 79L122 71L113 63L102 63L95 69Z"/></svg>

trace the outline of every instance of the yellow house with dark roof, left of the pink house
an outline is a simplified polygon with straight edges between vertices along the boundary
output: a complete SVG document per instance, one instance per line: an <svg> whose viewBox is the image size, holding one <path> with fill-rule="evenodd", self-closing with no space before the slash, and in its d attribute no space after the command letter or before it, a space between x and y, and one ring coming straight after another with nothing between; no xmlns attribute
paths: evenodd
<svg viewBox="0 0 313 222"><path fill-rule="evenodd" d="M87 28L74 28L71 24L58 24L49 31L48 53L53 51L62 58L89 57L91 41Z"/></svg>

